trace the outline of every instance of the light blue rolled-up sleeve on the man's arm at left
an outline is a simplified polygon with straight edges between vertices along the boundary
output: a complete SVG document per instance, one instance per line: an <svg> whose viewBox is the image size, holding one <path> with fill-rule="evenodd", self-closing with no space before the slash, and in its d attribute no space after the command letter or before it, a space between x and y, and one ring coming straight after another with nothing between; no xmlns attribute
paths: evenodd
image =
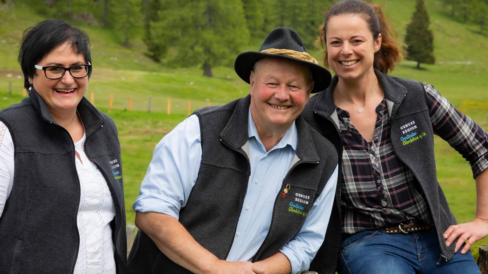
<svg viewBox="0 0 488 274"><path fill-rule="evenodd" d="M135 212L158 212L179 219L197 180L202 146L200 122L191 115L156 145L132 205Z"/></svg>

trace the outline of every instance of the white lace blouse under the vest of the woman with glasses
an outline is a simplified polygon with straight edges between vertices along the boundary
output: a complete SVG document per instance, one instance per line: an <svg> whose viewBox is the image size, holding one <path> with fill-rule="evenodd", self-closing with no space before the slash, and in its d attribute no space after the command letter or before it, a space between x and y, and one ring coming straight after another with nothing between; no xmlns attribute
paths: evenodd
<svg viewBox="0 0 488 274"><path fill-rule="evenodd" d="M78 232L80 249L74 274L115 273L115 247L110 222L115 207L105 178L84 153L86 136L74 143L76 170L80 178ZM14 144L8 128L0 121L0 216L14 182Z"/></svg>

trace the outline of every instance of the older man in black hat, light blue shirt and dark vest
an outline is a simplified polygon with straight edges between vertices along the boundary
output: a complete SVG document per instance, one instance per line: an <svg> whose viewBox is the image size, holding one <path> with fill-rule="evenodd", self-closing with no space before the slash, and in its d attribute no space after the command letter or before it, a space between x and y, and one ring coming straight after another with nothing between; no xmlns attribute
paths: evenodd
<svg viewBox="0 0 488 274"><path fill-rule="evenodd" d="M196 111L156 146L129 273L300 273L321 247L338 158L301 113L330 73L289 28L235 70L248 96Z"/></svg>

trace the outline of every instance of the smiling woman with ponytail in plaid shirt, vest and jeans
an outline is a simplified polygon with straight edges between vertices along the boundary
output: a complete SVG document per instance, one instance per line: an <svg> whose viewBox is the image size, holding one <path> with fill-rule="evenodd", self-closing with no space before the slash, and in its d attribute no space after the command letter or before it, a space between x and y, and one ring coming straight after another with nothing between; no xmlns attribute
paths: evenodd
<svg viewBox="0 0 488 274"><path fill-rule="evenodd" d="M381 7L361 0L325 15L324 61L336 76L303 114L342 159L324 242L340 251L337 259L319 253L311 268L337 260L339 274L480 273L469 247L488 235L488 134L431 85L387 75L404 53L393 33ZM471 222L457 224L449 210L434 133L471 165Z"/></svg>

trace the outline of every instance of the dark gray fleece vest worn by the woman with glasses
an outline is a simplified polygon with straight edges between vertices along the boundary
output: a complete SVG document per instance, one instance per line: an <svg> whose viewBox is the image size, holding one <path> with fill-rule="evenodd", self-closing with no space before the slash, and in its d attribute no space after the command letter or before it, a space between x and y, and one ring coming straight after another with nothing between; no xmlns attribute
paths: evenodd
<svg viewBox="0 0 488 274"><path fill-rule="evenodd" d="M114 122L85 98L78 105L85 153L100 169L115 204L112 240L117 273L126 273L122 164ZM80 181L69 133L33 90L0 111L15 147L12 192L0 218L0 274L73 273L80 236ZM117 173L117 175L114 175Z"/></svg>

